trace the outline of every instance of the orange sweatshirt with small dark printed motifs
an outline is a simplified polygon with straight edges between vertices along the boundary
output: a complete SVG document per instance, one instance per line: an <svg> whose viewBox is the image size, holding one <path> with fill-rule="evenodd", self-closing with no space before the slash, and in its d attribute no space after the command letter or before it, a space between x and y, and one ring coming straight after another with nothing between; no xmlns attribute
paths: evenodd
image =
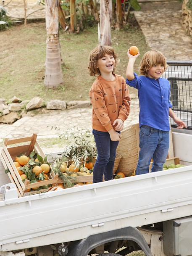
<svg viewBox="0 0 192 256"><path fill-rule="evenodd" d="M92 103L92 128L108 132L116 119L125 121L129 116L130 95L125 79L115 74L114 81L99 76L89 90Z"/></svg>

